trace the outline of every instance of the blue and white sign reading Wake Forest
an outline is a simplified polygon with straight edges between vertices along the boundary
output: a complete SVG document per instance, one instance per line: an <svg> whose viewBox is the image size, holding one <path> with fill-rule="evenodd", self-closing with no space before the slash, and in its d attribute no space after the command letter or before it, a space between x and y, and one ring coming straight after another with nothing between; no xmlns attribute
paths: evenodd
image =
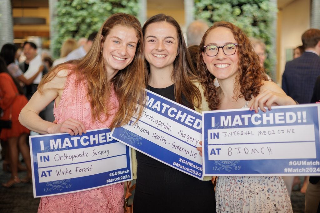
<svg viewBox="0 0 320 213"><path fill-rule="evenodd" d="M79 192L132 179L128 146L110 129L29 136L34 197Z"/></svg>

